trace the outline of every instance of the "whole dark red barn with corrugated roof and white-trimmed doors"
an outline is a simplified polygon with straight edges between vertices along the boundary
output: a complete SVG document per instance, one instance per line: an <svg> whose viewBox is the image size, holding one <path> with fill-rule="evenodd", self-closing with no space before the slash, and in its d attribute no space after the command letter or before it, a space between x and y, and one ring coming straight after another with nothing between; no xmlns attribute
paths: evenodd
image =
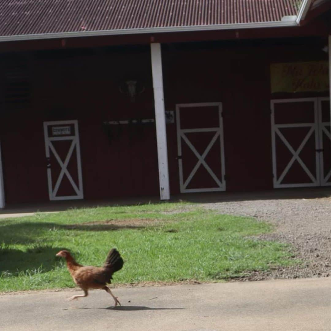
<svg viewBox="0 0 331 331"><path fill-rule="evenodd" d="M331 1L0 12L0 207L331 185Z"/></svg>

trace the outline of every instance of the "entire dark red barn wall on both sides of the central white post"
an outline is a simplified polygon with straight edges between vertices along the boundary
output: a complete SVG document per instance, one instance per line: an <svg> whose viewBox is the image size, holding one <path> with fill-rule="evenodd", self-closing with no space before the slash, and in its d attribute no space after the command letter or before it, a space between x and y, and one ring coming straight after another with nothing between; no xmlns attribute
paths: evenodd
<svg viewBox="0 0 331 331"><path fill-rule="evenodd" d="M222 102L227 191L272 188L270 99L309 95L271 95L269 65L326 59L321 46L319 40L163 46L166 110L174 111L177 103ZM30 102L20 110L5 105L1 118L6 202L48 200L43 121L65 119L78 119L85 198L157 196L155 125L113 126L111 140L103 127L104 121L154 118L149 48L22 55L28 63ZM119 91L127 79L145 88L134 103ZM167 124L167 139L175 194L175 123Z"/></svg>

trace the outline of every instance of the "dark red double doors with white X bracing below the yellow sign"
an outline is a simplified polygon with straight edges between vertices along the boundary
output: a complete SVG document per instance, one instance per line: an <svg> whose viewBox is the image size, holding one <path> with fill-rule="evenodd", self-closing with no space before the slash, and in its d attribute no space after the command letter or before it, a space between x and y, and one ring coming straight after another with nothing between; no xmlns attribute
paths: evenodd
<svg viewBox="0 0 331 331"><path fill-rule="evenodd" d="M331 185L328 98L271 101L273 185Z"/></svg>

